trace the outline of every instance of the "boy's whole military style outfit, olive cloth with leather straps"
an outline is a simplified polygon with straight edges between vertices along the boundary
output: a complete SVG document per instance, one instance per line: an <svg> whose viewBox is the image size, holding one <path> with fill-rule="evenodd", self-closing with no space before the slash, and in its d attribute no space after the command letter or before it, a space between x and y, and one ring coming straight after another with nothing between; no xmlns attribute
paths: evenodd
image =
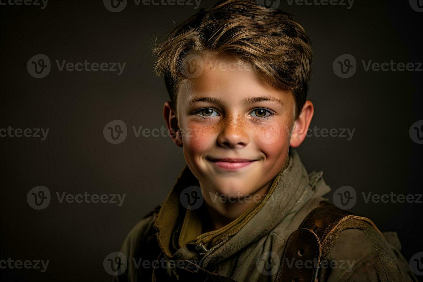
<svg viewBox="0 0 423 282"><path fill-rule="evenodd" d="M308 174L291 149L263 200L201 234L195 210L180 200L184 189L198 185L185 167L165 202L126 237L127 267L114 281L415 280L396 233L381 233L371 220L327 203L322 174ZM148 263L135 263L141 260Z"/></svg>

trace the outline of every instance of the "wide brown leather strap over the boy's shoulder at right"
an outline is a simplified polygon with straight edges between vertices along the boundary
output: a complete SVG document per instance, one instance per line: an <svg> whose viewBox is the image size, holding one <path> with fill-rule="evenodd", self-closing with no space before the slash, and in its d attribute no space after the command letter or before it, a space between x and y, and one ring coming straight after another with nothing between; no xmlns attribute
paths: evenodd
<svg viewBox="0 0 423 282"><path fill-rule="evenodd" d="M347 219L368 222L379 231L370 219L341 210L327 201L321 201L320 206L308 214L299 229L288 237L276 281L317 281L327 238Z"/></svg>

